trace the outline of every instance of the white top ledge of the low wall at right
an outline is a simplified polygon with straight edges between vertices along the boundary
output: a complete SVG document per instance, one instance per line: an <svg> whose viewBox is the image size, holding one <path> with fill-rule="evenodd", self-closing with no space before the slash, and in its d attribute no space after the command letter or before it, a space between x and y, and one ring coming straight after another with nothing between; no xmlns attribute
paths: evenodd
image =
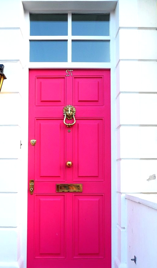
<svg viewBox="0 0 157 268"><path fill-rule="evenodd" d="M125 198L157 210L157 194L125 194Z"/></svg>

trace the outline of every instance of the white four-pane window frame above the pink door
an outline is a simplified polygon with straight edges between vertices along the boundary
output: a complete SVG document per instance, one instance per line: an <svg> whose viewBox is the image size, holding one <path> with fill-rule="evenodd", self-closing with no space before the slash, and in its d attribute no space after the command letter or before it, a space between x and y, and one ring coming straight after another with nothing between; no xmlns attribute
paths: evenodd
<svg viewBox="0 0 157 268"><path fill-rule="evenodd" d="M31 12L33 13L43 13L43 12ZM61 13L61 12L55 12L51 11L49 13ZM28 39L29 41L31 40L67 40L68 41L68 61L67 62L29 62L28 58L28 68L96 68L96 69L111 69L112 66L112 59L113 59L113 54L111 53L112 46L114 43L114 38L112 34L112 29L113 29L113 12L110 11L102 11L102 12L93 12L93 11L86 11L86 12L80 12L80 11L75 11L75 12L62 12L62 13L67 13L68 14L68 36L30 36L28 34ZM72 13L77 13L77 14L110 14L110 36L72 36L71 34L71 14ZM46 12L44 13L46 14ZM26 13L26 19L27 19L27 25L30 25L29 22L29 12ZM28 31L30 33L30 26L28 28ZM103 41L110 41L110 62L108 63L100 63L100 62L72 62L71 61L71 42L72 40L103 40ZM29 49L28 49L29 50ZM29 56L28 56L29 57Z"/></svg>

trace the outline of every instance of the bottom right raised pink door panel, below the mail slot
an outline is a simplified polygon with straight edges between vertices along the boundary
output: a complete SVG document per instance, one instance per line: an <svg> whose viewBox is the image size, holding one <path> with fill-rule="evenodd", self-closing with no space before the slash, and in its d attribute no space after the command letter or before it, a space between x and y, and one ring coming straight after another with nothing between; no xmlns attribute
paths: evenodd
<svg viewBox="0 0 157 268"><path fill-rule="evenodd" d="M104 195L74 195L74 258L104 258Z"/></svg>

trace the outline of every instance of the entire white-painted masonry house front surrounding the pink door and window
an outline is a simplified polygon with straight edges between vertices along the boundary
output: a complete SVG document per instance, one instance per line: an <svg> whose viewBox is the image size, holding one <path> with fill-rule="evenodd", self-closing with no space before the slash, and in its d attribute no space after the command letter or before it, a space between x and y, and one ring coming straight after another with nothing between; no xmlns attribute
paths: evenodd
<svg viewBox="0 0 157 268"><path fill-rule="evenodd" d="M151 193L152 204L157 192L157 1L0 0L0 5L0 63L7 77L0 93L0 268L26 268L28 69L69 67L29 63L29 12L63 11L111 12L111 63L71 67L111 68L112 268L135 267L134 255L137 268L155 268L156 208L133 194ZM148 180L153 174L156 179Z"/></svg>

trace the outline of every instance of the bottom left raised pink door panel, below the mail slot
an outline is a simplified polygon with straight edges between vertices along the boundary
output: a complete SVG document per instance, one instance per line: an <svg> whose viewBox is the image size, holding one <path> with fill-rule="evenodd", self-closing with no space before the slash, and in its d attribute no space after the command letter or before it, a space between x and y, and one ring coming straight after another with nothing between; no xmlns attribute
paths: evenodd
<svg viewBox="0 0 157 268"><path fill-rule="evenodd" d="M65 195L35 195L35 258L65 258Z"/></svg>

